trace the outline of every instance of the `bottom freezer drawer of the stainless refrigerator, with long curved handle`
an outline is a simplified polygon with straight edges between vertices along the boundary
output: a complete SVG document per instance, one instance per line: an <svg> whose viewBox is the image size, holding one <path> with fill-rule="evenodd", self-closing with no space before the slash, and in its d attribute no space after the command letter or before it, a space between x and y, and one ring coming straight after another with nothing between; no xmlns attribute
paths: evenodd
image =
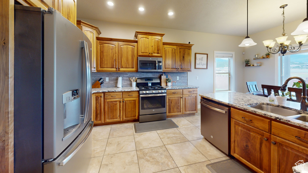
<svg viewBox="0 0 308 173"><path fill-rule="evenodd" d="M91 159L93 121L74 142L51 162L43 163L44 173L85 173Z"/></svg>

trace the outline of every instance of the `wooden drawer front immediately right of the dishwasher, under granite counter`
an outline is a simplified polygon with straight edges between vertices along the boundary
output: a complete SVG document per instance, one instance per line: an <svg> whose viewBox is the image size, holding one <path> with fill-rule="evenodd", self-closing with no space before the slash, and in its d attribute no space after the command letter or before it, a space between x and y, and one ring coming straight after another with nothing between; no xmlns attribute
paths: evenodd
<svg viewBox="0 0 308 173"><path fill-rule="evenodd" d="M231 108L231 118L270 133L270 120Z"/></svg>

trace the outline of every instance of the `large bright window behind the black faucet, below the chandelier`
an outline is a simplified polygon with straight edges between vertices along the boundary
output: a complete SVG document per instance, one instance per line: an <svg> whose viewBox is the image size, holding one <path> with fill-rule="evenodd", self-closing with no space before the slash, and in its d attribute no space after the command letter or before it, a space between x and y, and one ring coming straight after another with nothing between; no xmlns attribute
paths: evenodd
<svg viewBox="0 0 308 173"><path fill-rule="evenodd" d="M280 78L279 84L282 85L290 77L300 77L308 82L308 50L300 51L297 54L285 54L279 56ZM288 87L293 86L293 82L298 79L292 79L288 82ZM295 87L295 86L294 86Z"/></svg>

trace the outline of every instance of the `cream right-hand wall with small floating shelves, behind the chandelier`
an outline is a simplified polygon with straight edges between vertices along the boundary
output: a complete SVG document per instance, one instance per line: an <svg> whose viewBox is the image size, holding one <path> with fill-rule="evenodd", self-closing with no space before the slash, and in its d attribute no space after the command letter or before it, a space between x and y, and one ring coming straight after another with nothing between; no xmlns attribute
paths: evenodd
<svg viewBox="0 0 308 173"><path fill-rule="evenodd" d="M268 19L265 19L268 20ZM288 36L287 40L291 40L291 44L293 46L298 46L298 44L295 43L295 40L293 38L294 35L291 35L291 33L297 28L297 26L302 22L302 20L298 20L295 22L285 23L285 33L287 33L286 36ZM261 62L260 67L244 67L244 80L245 82L249 81L257 81L258 89L261 89L261 84L265 85L278 85L277 82L275 82L275 76L278 77L277 70L275 70L275 65L277 65L277 60L275 60L275 54L270 54L270 59L258 59L253 60L255 54L259 54L259 56L264 55L267 52L267 48L263 45L264 40L274 40L275 38L280 37L280 34L282 34L282 25L265 30L256 34L249 35L250 38L253 39L254 42L257 43L255 46L251 47L245 47L245 55L244 59L250 59L251 63ZM276 41L276 45L278 45ZM305 43L304 45L307 45ZM304 46L303 48L307 48L307 46ZM246 87L246 84L243 83L243 87ZM247 88L246 88L247 90Z"/></svg>

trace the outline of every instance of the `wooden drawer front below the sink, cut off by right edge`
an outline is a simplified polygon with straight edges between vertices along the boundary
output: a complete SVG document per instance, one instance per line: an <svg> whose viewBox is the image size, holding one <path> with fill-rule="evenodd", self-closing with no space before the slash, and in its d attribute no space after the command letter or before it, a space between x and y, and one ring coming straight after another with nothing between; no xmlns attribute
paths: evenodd
<svg viewBox="0 0 308 173"><path fill-rule="evenodd" d="M308 147L308 132L281 123L272 122L272 135Z"/></svg>

